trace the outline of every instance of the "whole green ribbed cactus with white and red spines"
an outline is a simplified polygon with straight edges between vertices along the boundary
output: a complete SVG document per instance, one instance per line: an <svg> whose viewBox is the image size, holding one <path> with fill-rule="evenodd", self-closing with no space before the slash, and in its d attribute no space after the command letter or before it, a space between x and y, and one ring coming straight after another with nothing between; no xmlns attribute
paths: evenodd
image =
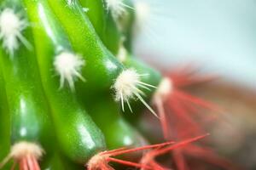
<svg viewBox="0 0 256 170"><path fill-rule="evenodd" d="M207 135L189 116L192 108L180 103L218 109L179 90L201 79L166 76L137 59L133 6L128 0L1 1L0 169L165 169L155 158L172 151L175 167L183 169L180 150L213 156L192 144ZM172 109L177 127L164 108ZM161 122L161 144L149 144L137 126L145 109ZM186 123L191 132L183 132Z"/></svg>

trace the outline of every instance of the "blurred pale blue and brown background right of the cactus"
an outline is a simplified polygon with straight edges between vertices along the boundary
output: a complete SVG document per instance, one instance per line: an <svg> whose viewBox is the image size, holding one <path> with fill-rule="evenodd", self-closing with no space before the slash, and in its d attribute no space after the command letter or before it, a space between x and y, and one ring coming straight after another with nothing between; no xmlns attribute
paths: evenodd
<svg viewBox="0 0 256 170"><path fill-rule="evenodd" d="M213 145L256 169L256 1L144 0L136 53L171 69L192 63L218 81L190 90L226 113L211 131Z"/></svg>

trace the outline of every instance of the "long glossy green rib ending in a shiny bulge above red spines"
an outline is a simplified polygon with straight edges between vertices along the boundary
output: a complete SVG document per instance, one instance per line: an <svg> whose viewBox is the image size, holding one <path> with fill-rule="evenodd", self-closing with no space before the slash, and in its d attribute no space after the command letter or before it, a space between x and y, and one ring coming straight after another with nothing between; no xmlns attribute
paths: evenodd
<svg viewBox="0 0 256 170"><path fill-rule="evenodd" d="M49 4L44 0L25 0L33 27L35 48L44 91L49 100L58 146L65 156L85 163L98 151L105 150L101 130L79 105L69 89L59 89L59 77L53 77L53 61L59 49L69 50L65 34ZM67 8L67 7L66 7Z"/></svg>

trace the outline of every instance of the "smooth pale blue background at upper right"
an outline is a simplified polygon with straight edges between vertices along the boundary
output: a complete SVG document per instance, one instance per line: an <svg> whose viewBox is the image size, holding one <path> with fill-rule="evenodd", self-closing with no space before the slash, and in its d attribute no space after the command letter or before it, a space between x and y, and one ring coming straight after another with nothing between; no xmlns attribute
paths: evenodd
<svg viewBox="0 0 256 170"><path fill-rule="evenodd" d="M194 61L248 88L256 89L255 0L148 0L152 12L139 54L159 54L170 66Z"/></svg>

